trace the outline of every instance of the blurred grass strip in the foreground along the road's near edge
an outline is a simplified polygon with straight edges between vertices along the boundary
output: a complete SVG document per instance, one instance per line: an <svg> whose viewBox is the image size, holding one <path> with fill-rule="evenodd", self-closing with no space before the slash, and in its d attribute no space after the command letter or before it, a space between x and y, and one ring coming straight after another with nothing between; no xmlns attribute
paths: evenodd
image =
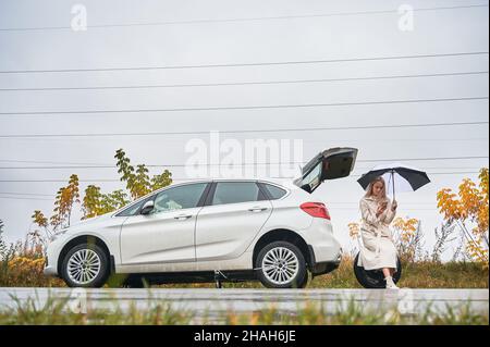
<svg viewBox="0 0 490 347"><path fill-rule="evenodd" d="M164 301L154 300L148 309L130 306L121 310L114 302L112 310L88 309L86 313L74 313L69 309L68 299L48 298L45 305L36 300L14 299L13 308L0 309L0 325L175 325L175 324L229 324L229 325L488 325L488 311L483 314L469 310L469 305L455 309L448 308L437 313L430 308L419 315L402 315L397 311L369 310L351 300L347 306L333 312L326 312L321 306L306 303L295 312L279 312L273 306L262 311L247 314L223 312L211 320L206 312L195 317L188 311L175 311Z"/></svg>

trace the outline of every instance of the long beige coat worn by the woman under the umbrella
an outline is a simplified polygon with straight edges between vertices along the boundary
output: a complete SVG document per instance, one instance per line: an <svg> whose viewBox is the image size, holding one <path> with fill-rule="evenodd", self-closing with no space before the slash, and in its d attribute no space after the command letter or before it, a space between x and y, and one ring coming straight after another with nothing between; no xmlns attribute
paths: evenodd
<svg viewBox="0 0 490 347"><path fill-rule="evenodd" d="M396 248L390 231L390 223L395 218L396 211L392 211L392 203L388 201L384 212L376 216L378 203L373 197L365 197L359 203L363 215L360 236L364 245L360 245L358 265L366 270L396 269Z"/></svg>

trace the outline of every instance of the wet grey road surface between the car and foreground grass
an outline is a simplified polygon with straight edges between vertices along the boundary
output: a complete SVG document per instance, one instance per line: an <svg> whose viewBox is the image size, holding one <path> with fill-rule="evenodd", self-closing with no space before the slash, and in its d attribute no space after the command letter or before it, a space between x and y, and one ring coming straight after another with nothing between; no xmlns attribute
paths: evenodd
<svg viewBox="0 0 490 347"><path fill-rule="evenodd" d="M397 310L409 315L424 313L429 307L445 312L464 305L473 313L489 314L488 289L0 288L0 310L27 300L41 307L48 298L70 298L68 309L72 310L118 307L125 311L132 305L143 310L164 301L174 310L192 312L195 319L206 315L210 321L224 312L250 313L272 306L279 312L294 313L306 303L321 305L329 314L344 310L352 301L365 310Z"/></svg>

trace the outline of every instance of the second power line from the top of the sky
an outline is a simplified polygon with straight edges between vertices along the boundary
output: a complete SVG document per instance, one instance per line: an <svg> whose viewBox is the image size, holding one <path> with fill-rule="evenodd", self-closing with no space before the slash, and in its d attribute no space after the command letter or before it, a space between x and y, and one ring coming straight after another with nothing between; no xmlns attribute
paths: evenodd
<svg viewBox="0 0 490 347"><path fill-rule="evenodd" d="M465 55L482 55L482 54L488 54L488 51L437 53L437 54L416 54L416 55L365 57L365 58L326 59L326 60L303 60L303 61L283 61L283 62L256 62L256 63L223 63L223 64L198 64L198 65L134 66L134 67L60 69L60 70L4 70L4 71L0 71L0 74L73 73L73 72L110 72L110 71L145 71L145 70L180 70L180 69L273 66L273 65L341 63L341 62L359 62L359 61L384 61L384 60L400 60L400 59L425 59L425 58L442 58L442 57L465 57Z"/></svg>

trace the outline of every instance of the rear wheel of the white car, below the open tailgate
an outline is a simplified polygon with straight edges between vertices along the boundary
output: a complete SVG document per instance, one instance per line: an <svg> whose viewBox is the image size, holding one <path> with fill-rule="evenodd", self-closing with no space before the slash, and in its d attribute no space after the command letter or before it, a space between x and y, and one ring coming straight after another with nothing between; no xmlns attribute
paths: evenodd
<svg viewBox="0 0 490 347"><path fill-rule="evenodd" d="M287 241L274 241L257 256L257 277L267 288L304 288L308 283L305 257Z"/></svg>

